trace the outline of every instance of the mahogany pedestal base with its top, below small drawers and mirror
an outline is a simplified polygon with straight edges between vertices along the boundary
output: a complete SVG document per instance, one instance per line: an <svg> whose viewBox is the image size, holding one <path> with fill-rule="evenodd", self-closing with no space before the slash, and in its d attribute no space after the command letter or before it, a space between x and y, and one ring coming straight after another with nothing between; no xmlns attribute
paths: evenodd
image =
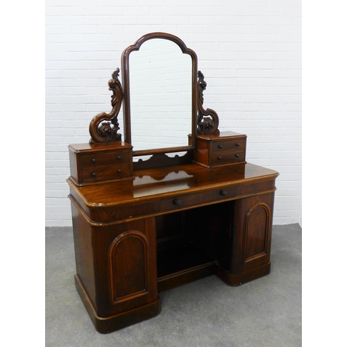
<svg viewBox="0 0 347 347"><path fill-rule="evenodd" d="M276 171L185 164L134 176L68 180L76 285L100 332L158 314L162 290L213 273L232 286L269 273Z"/></svg>

